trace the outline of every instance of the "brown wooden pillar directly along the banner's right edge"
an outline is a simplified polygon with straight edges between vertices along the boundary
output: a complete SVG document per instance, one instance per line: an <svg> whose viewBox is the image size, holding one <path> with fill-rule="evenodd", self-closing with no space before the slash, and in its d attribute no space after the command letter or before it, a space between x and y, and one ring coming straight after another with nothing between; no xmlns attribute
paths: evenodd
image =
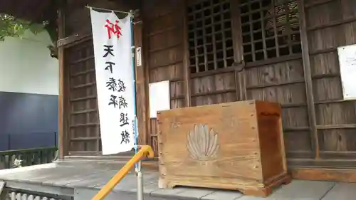
<svg viewBox="0 0 356 200"><path fill-rule="evenodd" d="M150 123L148 115L148 110L147 110L147 101L148 101L148 91L146 87L146 78L145 78L145 60L143 59L143 48L142 48L142 29L143 29L143 22L140 17L135 18L134 22L134 34L135 34L135 53L136 53L136 58L137 58L137 48L140 49L140 54L141 54L141 65L137 65L137 62L135 63L136 67L136 105L137 105L137 127L138 127L138 132L139 132L139 137L138 137L138 144L143 145L143 144L148 144L147 143L147 124ZM136 59L137 60L137 59Z"/></svg>

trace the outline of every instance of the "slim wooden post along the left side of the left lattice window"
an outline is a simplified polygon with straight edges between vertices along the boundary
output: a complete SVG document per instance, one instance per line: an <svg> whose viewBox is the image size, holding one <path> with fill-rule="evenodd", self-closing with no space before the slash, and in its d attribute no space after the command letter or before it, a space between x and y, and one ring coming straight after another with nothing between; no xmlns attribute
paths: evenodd
<svg viewBox="0 0 356 200"><path fill-rule="evenodd" d="M183 67L184 67L184 88L185 88L185 107L192 106L192 96L190 92L190 66L189 66L189 41L188 41L188 19L187 19L187 0L182 6L183 14Z"/></svg>

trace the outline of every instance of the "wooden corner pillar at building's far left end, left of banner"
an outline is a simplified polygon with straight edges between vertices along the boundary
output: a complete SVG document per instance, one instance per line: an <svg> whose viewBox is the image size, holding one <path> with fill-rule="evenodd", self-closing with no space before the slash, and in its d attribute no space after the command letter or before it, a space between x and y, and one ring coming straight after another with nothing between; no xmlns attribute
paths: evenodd
<svg viewBox="0 0 356 200"><path fill-rule="evenodd" d="M64 31L64 11L63 7L58 10L58 40L65 37ZM58 46L58 43L57 43ZM66 115L65 115L65 63L64 63L64 46L58 46L58 63L59 63L59 95L58 95L58 142L59 142L59 158L63 159L68 152L66 144Z"/></svg>

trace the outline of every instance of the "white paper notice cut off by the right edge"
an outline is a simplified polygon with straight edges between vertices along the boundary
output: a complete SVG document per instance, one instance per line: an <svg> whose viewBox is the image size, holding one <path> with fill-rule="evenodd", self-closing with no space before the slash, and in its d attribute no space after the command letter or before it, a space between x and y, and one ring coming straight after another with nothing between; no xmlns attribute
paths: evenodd
<svg viewBox="0 0 356 200"><path fill-rule="evenodd" d="M337 48L344 100L356 99L356 45Z"/></svg>

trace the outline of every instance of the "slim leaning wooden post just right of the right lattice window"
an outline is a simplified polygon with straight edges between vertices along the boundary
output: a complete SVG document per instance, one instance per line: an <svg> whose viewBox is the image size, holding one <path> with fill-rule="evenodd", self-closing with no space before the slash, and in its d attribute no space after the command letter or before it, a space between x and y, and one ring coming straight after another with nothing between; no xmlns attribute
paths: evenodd
<svg viewBox="0 0 356 200"><path fill-rule="evenodd" d="M309 127L310 127L311 138L313 141L312 145L315 153L315 158L318 159L320 157L318 130L316 127L313 80L312 80L312 74L310 70L310 54L309 54L309 44L308 44L307 22L305 19L304 0L298 1L298 11L299 11L299 23L300 23L300 40L301 40L302 55L303 55L305 91L306 91L306 98L308 104Z"/></svg>

